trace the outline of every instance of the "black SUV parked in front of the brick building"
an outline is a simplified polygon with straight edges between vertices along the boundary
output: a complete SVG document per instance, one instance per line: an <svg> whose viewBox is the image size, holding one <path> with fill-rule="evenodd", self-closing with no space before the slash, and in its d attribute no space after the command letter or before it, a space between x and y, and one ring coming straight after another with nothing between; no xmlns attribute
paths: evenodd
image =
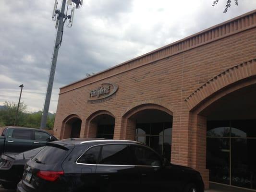
<svg viewBox="0 0 256 192"><path fill-rule="evenodd" d="M203 192L199 172L134 141L48 143L24 167L17 192Z"/></svg>

